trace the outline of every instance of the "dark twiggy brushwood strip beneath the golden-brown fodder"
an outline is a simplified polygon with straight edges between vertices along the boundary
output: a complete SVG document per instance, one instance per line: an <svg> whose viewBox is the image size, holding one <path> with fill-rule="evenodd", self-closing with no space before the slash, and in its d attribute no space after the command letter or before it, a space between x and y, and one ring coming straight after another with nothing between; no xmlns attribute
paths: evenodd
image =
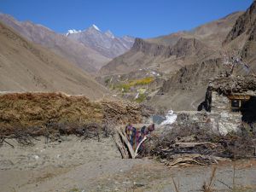
<svg viewBox="0 0 256 192"><path fill-rule="evenodd" d="M21 145L33 145L37 137L44 136L45 142L59 141L63 135L76 135L81 139L101 140L102 137L113 135L113 131L107 125L96 123L75 124L75 123L50 123L46 126L12 126L11 129L0 132L0 145L8 143L6 139L15 139ZM11 145L10 143L8 143ZM12 146L12 145L11 145ZM12 146L13 147L13 146Z"/></svg>

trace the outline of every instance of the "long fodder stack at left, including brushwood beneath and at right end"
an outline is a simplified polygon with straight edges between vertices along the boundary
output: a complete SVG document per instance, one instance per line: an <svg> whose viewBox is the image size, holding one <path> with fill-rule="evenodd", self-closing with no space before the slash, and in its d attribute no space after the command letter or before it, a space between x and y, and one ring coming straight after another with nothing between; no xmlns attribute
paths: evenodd
<svg viewBox="0 0 256 192"><path fill-rule="evenodd" d="M99 138L111 133L109 122L117 125L142 119L143 107L131 102L91 102L85 96L59 92L0 95L0 143L7 137L23 141L28 136L57 138L61 134Z"/></svg>

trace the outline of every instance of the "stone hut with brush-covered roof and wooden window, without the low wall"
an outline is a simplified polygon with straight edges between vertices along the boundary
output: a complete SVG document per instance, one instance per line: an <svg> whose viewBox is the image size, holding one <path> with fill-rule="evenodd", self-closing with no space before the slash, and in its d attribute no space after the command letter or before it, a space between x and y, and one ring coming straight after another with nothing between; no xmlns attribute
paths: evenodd
<svg viewBox="0 0 256 192"><path fill-rule="evenodd" d="M198 108L226 134L237 131L242 123L256 123L256 77L218 77L207 88L206 99Z"/></svg>

